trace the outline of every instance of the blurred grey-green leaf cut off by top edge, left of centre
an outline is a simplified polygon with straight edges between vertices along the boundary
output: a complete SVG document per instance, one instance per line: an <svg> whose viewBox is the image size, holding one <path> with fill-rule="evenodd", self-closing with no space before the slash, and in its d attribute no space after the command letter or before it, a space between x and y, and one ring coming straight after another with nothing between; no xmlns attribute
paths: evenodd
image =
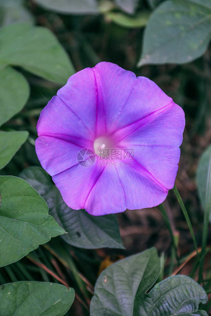
<svg viewBox="0 0 211 316"><path fill-rule="evenodd" d="M96 0L35 0L46 9L63 14L97 13Z"/></svg>

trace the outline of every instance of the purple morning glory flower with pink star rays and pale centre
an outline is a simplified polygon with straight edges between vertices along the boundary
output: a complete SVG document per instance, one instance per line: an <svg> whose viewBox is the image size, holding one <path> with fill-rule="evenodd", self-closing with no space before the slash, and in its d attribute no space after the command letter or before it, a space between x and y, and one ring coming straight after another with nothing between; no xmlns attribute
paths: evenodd
<svg viewBox="0 0 211 316"><path fill-rule="evenodd" d="M173 188L184 125L154 82L102 62L71 76L42 110L36 153L72 209L142 209Z"/></svg>

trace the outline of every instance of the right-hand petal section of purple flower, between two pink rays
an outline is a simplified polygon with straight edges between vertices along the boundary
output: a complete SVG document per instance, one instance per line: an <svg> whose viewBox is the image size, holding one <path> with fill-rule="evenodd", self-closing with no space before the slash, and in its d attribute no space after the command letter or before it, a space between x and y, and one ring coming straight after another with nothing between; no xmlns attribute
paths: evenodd
<svg viewBox="0 0 211 316"><path fill-rule="evenodd" d="M172 189L183 139L184 112L172 102L116 132L122 147L134 150L134 159L161 185Z"/></svg>

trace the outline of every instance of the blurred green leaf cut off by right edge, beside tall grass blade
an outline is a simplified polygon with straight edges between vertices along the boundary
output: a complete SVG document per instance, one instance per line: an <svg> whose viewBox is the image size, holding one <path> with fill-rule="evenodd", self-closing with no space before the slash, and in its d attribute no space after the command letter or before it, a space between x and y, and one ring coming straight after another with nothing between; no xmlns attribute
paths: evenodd
<svg viewBox="0 0 211 316"><path fill-rule="evenodd" d="M201 203L203 207L205 207L206 191L207 191L207 177L208 177L210 158L211 158L211 145L205 150L202 157L200 158L197 174L196 174L196 182L197 182L197 187L199 191L199 197L201 199ZM210 214L210 221L211 221L211 214Z"/></svg>

